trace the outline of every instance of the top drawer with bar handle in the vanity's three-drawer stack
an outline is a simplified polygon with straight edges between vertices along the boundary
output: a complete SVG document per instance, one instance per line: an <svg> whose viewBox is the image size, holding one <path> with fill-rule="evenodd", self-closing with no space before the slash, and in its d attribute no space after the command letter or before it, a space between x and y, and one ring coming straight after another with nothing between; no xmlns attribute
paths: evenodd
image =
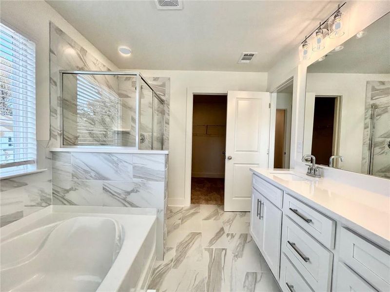
<svg viewBox="0 0 390 292"><path fill-rule="evenodd" d="M284 195L283 213L326 247L334 248L336 222L289 194Z"/></svg>

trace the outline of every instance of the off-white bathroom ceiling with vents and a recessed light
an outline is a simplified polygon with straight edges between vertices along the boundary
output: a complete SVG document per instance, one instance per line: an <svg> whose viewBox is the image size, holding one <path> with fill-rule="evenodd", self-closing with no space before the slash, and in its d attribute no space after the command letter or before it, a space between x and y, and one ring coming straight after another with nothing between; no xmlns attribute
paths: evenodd
<svg viewBox="0 0 390 292"><path fill-rule="evenodd" d="M246 72L267 72L339 3L192 0L164 11L154 0L47 2L120 69ZM119 55L119 45L133 53ZM237 64L243 52L258 54Z"/></svg>

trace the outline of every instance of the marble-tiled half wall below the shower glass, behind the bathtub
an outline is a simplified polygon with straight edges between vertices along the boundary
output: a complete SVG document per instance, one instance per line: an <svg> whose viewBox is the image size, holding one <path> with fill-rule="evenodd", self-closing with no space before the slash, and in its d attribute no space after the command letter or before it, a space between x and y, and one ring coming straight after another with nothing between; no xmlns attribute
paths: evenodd
<svg viewBox="0 0 390 292"><path fill-rule="evenodd" d="M168 155L52 152L53 205L157 209L157 257L166 237Z"/></svg>

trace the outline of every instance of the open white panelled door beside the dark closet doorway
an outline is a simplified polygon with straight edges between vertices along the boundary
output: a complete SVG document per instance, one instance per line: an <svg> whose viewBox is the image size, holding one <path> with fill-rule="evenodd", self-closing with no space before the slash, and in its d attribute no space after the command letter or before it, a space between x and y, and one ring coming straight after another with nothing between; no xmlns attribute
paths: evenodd
<svg viewBox="0 0 390 292"><path fill-rule="evenodd" d="M250 211L250 167L268 166L270 93L228 91L225 211Z"/></svg>

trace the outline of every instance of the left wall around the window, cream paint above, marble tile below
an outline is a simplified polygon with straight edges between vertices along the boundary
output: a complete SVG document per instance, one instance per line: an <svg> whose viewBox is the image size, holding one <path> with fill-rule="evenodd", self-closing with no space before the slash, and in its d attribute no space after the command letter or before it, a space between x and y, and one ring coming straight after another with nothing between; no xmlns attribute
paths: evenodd
<svg viewBox="0 0 390 292"><path fill-rule="evenodd" d="M55 22L73 37L85 51L116 69L87 39L78 33L45 1L1 1L1 22L36 43L36 116L38 168L43 172L1 180L0 223L8 224L51 204L51 154L49 100L49 23Z"/></svg>

